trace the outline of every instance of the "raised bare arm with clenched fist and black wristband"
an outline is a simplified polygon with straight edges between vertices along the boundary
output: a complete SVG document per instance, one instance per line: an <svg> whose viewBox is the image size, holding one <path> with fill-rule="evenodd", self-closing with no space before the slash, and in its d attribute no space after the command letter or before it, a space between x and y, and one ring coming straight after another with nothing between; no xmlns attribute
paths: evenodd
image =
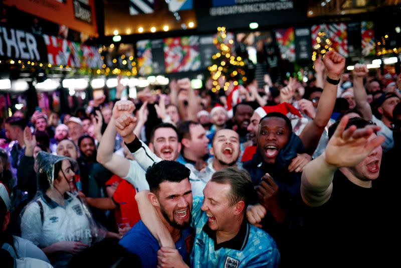
<svg viewBox="0 0 401 268"><path fill-rule="evenodd" d="M329 51L324 57L324 65L327 69L327 77L339 80L345 67L345 58L334 51ZM337 85L326 81L317 105L315 118L308 122L299 135L306 152L310 155L316 150L323 130L330 120L336 97Z"/></svg>

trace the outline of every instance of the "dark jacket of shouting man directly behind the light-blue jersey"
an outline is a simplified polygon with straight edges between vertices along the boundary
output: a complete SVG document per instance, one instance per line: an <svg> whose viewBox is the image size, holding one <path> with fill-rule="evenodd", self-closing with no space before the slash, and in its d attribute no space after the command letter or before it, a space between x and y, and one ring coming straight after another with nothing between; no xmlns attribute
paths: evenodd
<svg viewBox="0 0 401 268"><path fill-rule="evenodd" d="M285 212L285 219L278 223L268 213L263 219L263 229L273 236L280 250L280 267L292 267L298 257L299 246L302 244L303 210L305 205L301 198L301 174L288 171L291 160L297 154L304 153L301 140L295 133L292 133L287 145L282 148L276 158L275 164L264 162L259 149L252 160L245 162L243 167L252 178L254 186L261 182L261 178L269 173L279 187L278 201ZM254 203L258 203L255 192Z"/></svg>

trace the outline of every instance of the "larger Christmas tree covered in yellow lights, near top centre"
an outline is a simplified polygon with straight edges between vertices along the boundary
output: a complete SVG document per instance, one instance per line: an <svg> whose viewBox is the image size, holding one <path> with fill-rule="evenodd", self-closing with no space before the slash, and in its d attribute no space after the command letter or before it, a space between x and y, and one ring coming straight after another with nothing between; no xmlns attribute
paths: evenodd
<svg viewBox="0 0 401 268"><path fill-rule="evenodd" d="M228 37L226 27L218 27L217 31L217 37L213 39L213 43L219 52L212 56L212 65L208 67L213 79L213 92L221 89L218 82L220 77L226 81L223 86L224 90L228 89L229 81L234 81L235 86L247 81L243 59L239 56L236 57L232 52L234 40Z"/></svg>

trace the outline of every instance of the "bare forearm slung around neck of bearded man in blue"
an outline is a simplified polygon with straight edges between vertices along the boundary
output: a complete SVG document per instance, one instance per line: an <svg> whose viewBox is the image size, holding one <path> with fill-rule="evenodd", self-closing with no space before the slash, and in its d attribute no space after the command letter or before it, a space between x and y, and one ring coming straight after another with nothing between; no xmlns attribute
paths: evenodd
<svg viewBox="0 0 401 268"><path fill-rule="evenodd" d="M156 238L160 246L175 248L170 232L157 215L156 209L148 199L148 195L149 191L146 190L140 191L135 195L143 224L145 224L150 233Z"/></svg>

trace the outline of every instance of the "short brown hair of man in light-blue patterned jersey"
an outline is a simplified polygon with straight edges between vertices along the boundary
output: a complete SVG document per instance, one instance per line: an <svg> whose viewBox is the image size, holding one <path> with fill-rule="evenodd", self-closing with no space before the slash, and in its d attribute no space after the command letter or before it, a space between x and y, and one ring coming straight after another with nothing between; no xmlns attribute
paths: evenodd
<svg viewBox="0 0 401 268"><path fill-rule="evenodd" d="M254 193L252 180L247 171L239 170L233 167L223 169L215 172L211 181L219 184L229 184L231 187L231 191L228 196L230 205L233 206L239 201L244 201L244 213L246 212L246 208Z"/></svg>

